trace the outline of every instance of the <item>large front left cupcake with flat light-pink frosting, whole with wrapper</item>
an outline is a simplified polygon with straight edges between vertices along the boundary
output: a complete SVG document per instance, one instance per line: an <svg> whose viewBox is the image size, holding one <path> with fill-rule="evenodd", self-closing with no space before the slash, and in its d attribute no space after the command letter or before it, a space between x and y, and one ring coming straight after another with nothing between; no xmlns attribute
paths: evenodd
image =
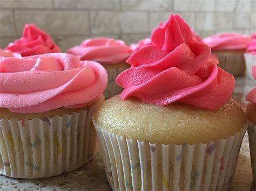
<svg viewBox="0 0 256 191"><path fill-rule="evenodd" d="M71 54L0 61L0 174L46 178L90 161L91 115L104 101L105 69Z"/></svg>

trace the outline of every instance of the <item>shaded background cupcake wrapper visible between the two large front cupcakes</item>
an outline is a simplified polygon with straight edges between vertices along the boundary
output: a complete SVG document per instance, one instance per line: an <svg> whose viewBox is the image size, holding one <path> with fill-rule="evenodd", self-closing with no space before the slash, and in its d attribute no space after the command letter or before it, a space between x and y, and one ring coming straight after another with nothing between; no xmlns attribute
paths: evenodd
<svg viewBox="0 0 256 191"><path fill-rule="evenodd" d="M126 70L129 67L130 66L119 67L119 68L105 68L107 75L109 76L107 87L103 93L106 98L110 98L115 95L118 95L123 91L123 88L118 86L118 84L116 83L116 78L120 73L124 72L124 70Z"/></svg>

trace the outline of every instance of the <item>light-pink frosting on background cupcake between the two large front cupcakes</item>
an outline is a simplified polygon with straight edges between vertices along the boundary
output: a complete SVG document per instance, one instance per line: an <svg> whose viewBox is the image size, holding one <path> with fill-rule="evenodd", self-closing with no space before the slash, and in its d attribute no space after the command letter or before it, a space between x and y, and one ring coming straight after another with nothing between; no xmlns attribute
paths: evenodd
<svg viewBox="0 0 256 191"><path fill-rule="evenodd" d="M132 49L122 40L110 38L86 39L80 46L72 47L68 53L80 60L93 60L102 64L124 62L132 53Z"/></svg>

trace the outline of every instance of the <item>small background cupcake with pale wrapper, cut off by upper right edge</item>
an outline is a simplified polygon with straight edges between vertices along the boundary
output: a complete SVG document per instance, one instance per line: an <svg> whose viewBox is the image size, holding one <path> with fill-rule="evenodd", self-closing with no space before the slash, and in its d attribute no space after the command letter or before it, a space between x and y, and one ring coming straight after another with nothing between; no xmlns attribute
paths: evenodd
<svg viewBox="0 0 256 191"><path fill-rule="evenodd" d="M253 40L247 45L244 57L246 63L246 76L248 76L251 80L254 80L252 76L252 66L256 65L256 34L254 34L252 37Z"/></svg>

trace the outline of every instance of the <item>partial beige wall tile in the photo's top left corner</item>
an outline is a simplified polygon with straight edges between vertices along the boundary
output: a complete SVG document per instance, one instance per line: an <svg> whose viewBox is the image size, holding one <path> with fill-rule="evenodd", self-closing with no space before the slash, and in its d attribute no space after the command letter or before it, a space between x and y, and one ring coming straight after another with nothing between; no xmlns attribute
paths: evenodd
<svg viewBox="0 0 256 191"><path fill-rule="evenodd" d="M0 8L52 8L52 0L0 0Z"/></svg>

